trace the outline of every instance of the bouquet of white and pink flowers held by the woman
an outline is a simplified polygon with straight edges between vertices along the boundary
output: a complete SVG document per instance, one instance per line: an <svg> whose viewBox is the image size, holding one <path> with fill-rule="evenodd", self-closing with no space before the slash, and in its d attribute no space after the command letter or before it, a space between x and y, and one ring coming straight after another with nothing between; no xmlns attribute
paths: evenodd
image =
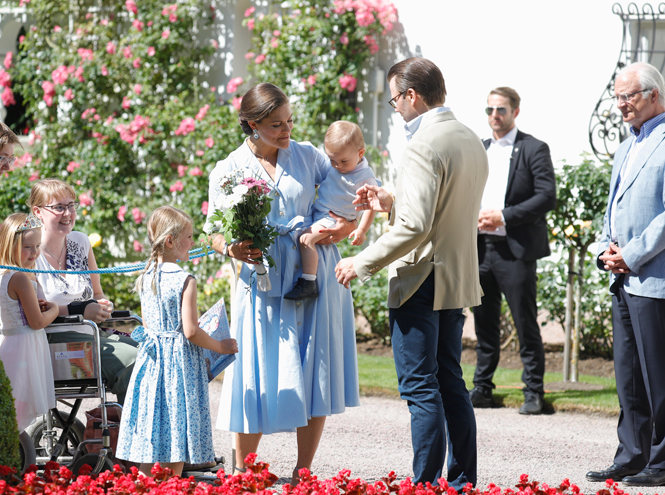
<svg viewBox="0 0 665 495"><path fill-rule="evenodd" d="M268 265L275 266L268 248L279 234L266 220L272 202L268 183L256 177L245 177L243 170L231 170L222 176L219 185L224 202L221 210L215 210L210 217L214 228L209 233L222 233L227 244L251 239L253 247L261 250ZM257 273L261 274L258 267Z"/></svg>

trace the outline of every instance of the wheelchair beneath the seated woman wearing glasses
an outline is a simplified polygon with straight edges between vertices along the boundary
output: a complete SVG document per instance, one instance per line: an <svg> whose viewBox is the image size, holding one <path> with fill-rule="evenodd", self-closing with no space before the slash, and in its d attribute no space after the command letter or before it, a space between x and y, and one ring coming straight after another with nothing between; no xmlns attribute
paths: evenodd
<svg viewBox="0 0 665 495"><path fill-rule="evenodd" d="M129 335L141 324L141 318L129 311L114 311L111 318L100 323L100 326ZM71 315L56 318L49 328L72 325L88 327L93 340L49 344L58 404L23 432L21 460L24 468L30 464L43 468L47 462L56 461L67 466L74 475L87 464L92 468L91 474L99 474L102 471L113 470L116 464L111 448L110 431L119 428L120 424L109 421L107 409L117 407L122 411L122 406L117 402L108 401L106 397L107 391L101 374L102 334L97 324L84 320L82 315ZM93 426L95 429L101 429L101 438L84 439L85 426L77 418L84 399L100 400L101 421L93 420ZM59 407L62 406L68 410L60 410ZM201 469L183 471L182 476L194 476L197 480L212 482L216 479L214 472L223 464L223 457L216 458L214 467L205 466Z"/></svg>

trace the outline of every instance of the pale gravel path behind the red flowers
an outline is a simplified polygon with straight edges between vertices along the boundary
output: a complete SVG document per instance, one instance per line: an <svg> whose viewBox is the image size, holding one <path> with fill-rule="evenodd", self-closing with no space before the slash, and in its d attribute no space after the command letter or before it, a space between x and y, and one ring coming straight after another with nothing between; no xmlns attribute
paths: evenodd
<svg viewBox="0 0 665 495"><path fill-rule="evenodd" d="M213 423L222 384L210 385ZM95 402L86 401L82 411ZM89 406L89 407L87 407ZM79 414L81 416L82 413ZM81 418L84 421L84 418ZM564 478L577 484L582 493L595 494L603 483L590 483L587 471L612 464L617 447L617 418L598 414L556 413L521 416L517 409L477 409L478 486L494 483L513 487L522 473L531 480L557 486ZM231 434L213 430L215 452L231 466ZM280 477L278 485L290 481L296 462L295 433L267 435L261 440L259 460L270 463ZM406 402L398 399L361 397L361 406L331 416L323 432L312 471L320 479L350 469L353 478L372 482L395 471L398 480L412 476L411 428ZM665 494L665 487L626 487L637 495ZM279 488L278 488L279 490Z"/></svg>

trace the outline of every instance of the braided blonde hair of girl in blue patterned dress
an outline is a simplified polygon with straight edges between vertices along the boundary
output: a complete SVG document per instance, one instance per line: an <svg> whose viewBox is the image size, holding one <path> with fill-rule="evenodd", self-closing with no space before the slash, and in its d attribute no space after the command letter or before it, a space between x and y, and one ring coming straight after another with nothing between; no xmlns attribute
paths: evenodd
<svg viewBox="0 0 665 495"><path fill-rule="evenodd" d="M158 257L164 254L166 239L171 236L173 242L178 242L185 227L192 225L192 217L178 208L172 206L160 206L152 212L148 218L148 240L150 241L150 258L146 262L145 268L139 278L136 280L135 290L143 290L143 278L150 266L155 264L155 274L152 277L152 292L157 293L157 267Z"/></svg>

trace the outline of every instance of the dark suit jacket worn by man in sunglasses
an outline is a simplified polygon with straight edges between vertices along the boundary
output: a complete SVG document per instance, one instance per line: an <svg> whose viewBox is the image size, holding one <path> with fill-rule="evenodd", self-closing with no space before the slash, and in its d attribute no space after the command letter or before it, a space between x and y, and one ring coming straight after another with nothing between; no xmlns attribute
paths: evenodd
<svg viewBox="0 0 665 495"><path fill-rule="evenodd" d="M483 141L485 149L490 142ZM550 254L545 214L555 207L556 181L549 146L518 130L503 209L508 246L516 258L534 261ZM480 243L479 249L484 249Z"/></svg>

